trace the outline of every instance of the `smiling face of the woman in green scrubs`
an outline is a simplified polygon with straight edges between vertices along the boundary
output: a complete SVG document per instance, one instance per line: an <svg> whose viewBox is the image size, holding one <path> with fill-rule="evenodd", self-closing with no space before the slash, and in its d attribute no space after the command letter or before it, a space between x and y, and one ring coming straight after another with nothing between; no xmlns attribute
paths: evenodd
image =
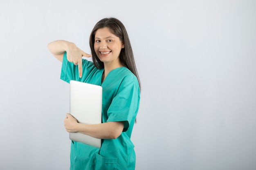
<svg viewBox="0 0 256 170"><path fill-rule="evenodd" d="M94 51L104 66L120 67L119 54L124 48L123 42L110 32L108 27L98 29L95 33Z"/></svg>

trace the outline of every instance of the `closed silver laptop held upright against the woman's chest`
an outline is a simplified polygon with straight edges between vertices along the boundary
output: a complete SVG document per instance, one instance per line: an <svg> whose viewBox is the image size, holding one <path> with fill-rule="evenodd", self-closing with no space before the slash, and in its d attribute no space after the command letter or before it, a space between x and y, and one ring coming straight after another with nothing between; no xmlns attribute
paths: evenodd
<svg viewBox="0 0 256 170"><path fill-rule="evenodd" d="M101 124L102 87L94 84L70 81L70 115L81 124ZM97 148L101 139L79 132L70 132L70 140Z"/></svg>

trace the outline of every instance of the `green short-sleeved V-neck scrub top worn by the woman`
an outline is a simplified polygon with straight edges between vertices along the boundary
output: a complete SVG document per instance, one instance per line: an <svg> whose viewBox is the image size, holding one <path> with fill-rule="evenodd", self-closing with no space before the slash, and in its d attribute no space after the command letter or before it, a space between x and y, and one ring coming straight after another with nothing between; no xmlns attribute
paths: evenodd
<svg viewBox="0 0 256 170"><path fill-rule="evenodd" d="M70 170L134 170L136 156L130 137L139 109L138 79L128 68L119 67L108 73L101 83L104 69L98 69L93 62L84 59L82 66L80 78L78 66L67 61L65 52L61 79L68 83L76 80L100 85L103 90L102 123L124 121L125 126L117 139L102 139L101 148L72 141Z"/></svg>

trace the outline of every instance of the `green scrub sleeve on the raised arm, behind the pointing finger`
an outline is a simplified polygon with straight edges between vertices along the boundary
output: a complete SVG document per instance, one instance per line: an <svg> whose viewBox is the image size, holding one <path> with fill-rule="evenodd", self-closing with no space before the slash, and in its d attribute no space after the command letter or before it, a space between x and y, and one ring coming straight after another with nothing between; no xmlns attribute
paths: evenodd
<svg viewBox="0 0 256 170"><path fill-rule="evenodd" d="M74 63L69 62L67 60L67 52L64 52L62 67L61 67L61 79L65 82L70 82L70 80L76 80L79 82L85 82L86 77L91 72L94 67L92 62L88 60L82 60L83 74L82 77L79 77L78 65L74 65Z"/></svg>

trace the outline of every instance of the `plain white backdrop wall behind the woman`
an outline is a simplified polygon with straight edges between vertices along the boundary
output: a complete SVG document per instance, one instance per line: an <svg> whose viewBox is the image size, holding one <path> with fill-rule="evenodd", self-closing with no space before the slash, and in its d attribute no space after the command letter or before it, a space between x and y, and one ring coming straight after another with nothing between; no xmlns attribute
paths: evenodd
<svg viewBox="0 0 256 170"><path fill-rule="evenodd" d="M69 84L54 40L128 31L141 78L137 170L256 167L255 0L1 0L0 169L68 170Z"/></svg>

